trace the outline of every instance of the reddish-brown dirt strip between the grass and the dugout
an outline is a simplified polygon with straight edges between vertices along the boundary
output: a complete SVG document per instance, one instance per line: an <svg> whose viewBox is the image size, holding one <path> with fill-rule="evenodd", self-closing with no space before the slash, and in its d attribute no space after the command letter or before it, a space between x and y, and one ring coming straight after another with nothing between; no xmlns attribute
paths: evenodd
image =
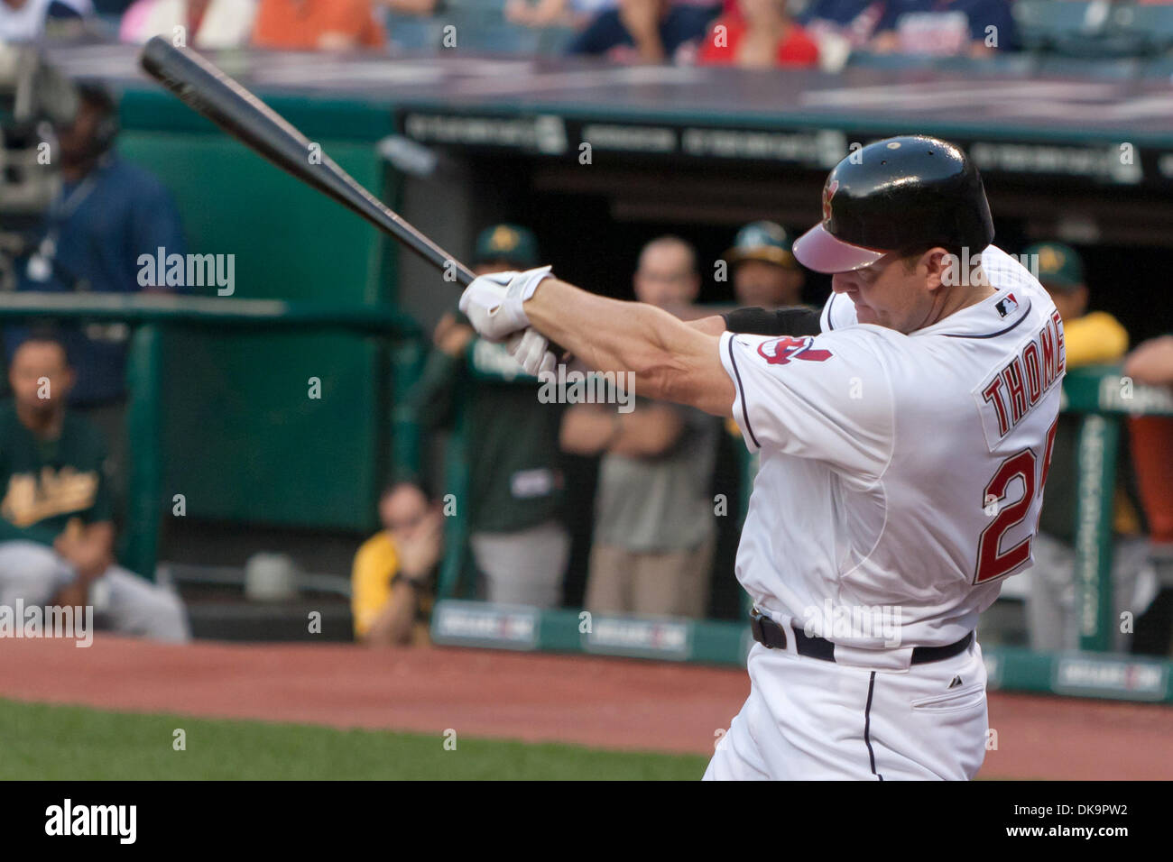
<svg viewBox="0 0 1173 862"><path fill-rule="evenodd" d="M744 671L481 650L187 646L97 636L0 643L0 697L603 748L712 751ZM994 693L982 778L1173 778L1173 710Z"/></svg>

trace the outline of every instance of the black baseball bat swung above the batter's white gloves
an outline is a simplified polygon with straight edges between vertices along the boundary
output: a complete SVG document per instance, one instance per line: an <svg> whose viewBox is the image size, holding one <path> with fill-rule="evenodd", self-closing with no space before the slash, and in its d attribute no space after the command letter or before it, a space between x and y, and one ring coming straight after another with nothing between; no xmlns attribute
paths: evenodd
<svg viewBox="0 0 1173 862"><path fill-rule="evenodd" d="M189 108L265 159L357 212L433 266L450 269L461 285L473 280L467 266L364 189L325 152L314 150L306 136L277 111L190 48L176 48L163 36L155 36L143 48L140 63Z"/></svg>

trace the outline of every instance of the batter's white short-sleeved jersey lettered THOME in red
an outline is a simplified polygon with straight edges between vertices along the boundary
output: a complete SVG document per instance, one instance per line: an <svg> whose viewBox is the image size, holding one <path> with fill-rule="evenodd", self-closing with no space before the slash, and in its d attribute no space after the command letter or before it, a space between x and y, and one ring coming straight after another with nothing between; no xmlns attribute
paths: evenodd
<svg viewBox="0 0 1173 862"><path fill-rule="evenodd" d="M733 418L761 459L738 581L838 660L893 646L857 609L888 609L909 652L951 644L1032 562L1063 323L1005 252L988 247L982 269L994 296L907 335L856 323L836 294L819 335L721 337Z"/></svg>

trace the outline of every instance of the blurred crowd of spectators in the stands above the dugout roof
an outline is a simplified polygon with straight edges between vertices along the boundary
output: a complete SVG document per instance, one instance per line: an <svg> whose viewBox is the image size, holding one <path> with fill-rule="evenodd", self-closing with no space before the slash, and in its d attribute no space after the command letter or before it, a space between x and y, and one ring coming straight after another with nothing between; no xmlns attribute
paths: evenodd
<svg viewBox="0 0 1173 862"><path fill-rule="evenodd" d="M459 48L838 72L852 57L1159 55L1173 48L1173 15L1144 11L1169 1L1077 0L1052 13L1047 0L0 0L0 41L165 35L201 49Z"/></svg>

